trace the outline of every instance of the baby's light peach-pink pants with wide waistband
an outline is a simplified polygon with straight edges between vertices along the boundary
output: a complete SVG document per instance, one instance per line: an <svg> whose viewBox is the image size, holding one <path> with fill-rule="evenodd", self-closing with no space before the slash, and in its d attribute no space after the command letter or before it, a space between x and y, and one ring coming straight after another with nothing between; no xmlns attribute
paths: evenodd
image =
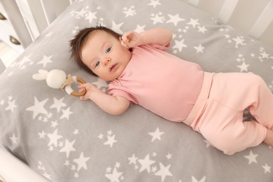
<svg viewBox="0 0 273 182"><path fill-rule="evenodd" d="M243 122L246 108L256 121ZM258 146L266 128L273 130L273 94L253 73L205 73L200 97L184 123L232 155Z"/></svg>

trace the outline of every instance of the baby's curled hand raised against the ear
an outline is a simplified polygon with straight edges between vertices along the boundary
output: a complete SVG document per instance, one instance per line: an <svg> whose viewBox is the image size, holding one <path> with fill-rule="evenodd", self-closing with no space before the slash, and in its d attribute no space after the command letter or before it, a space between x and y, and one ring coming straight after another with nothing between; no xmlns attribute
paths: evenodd
<svg viewBox="0 0 273 182"><path fill-rule="evenodd" d="M128 31L121 37L121 45L126 48L134 48L141 45L142 36L136 31Z"/></svg>

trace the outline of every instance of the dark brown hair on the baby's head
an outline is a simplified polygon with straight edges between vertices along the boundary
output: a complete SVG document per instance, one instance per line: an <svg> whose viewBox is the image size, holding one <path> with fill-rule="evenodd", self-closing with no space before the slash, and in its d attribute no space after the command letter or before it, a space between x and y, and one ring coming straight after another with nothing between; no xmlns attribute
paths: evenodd
<svg viewBox="0 0 273 182"><path fill-rule="evenodd" d="M115 31L102 27L101 25L97 25L96 27L89 27L85 29L81 29L78 31L78 34L70 41L70 51L71 51L71 57L73 60L76 61L80 69L84 69L87 71L87 73L91 73L92 75L95 75L93 71L86 66L82 59L81 59L81 51L83 49L83 46L87 42L88 38L92 36L94 33L97 31L106 31L107 33L111 34L112 36L116 37L119 39L121 36L120 34L116 33Z"/></svg>

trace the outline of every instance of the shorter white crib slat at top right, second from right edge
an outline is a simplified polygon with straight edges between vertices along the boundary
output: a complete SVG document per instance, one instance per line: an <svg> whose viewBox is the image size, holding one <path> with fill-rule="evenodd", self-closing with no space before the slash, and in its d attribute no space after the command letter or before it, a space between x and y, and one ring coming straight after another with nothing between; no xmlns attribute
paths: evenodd
<svg viewBox="0 0 273 182"><path fill-rule="evenodd" d="M235 10L239 0L225 0L218 15L218 19L226 24Z"/></svg>

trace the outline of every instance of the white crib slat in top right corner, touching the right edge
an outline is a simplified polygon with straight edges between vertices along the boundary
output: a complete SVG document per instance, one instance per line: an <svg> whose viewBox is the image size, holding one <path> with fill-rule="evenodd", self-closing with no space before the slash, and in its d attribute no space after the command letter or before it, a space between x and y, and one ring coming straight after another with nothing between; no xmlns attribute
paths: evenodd
<svg viewBox="0 0 273 182"><path fill-rule="evenodd" d="M273 1L269 1L267 6L260 14L258 20L253 25L251 31L249 31L249 35L254 38L260 38L263 32L267 29L270 23L273 20Z"/></svg>

